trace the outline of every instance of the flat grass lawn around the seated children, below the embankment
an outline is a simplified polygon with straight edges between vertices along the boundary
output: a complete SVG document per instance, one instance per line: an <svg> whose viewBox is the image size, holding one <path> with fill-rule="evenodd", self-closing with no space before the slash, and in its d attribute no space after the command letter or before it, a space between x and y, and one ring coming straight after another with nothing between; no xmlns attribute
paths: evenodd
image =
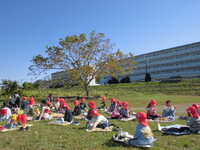
<svg viewBox="0 0 200 150"><path fill-rule="evenodd" d="M192 103L200 104L200 96L191 95L168 95L160 93L135 93L125 91L124 94L113 94L112 92L107 97L114 97L122 101L128 101L130 109L135 112L145 111L144 108L148 102L154 98L158 103L158 112L161 112L162 106L167 99L172 100L174 105L177 105L177 112L181 115L186 115L185 108ZM100 100L94 100L97 106ZM73 108L72 103L69 103ZM109 102L107 101L107 104ZM177 115L179 115L177 114ZM133 147L124 147L121 144L111 140L115 132L92 132L85 131L85 121L80 120L79 126L56 126L47 125L48 121L31 122L34 126L29 132L12 131L0 133L0 149L26 149L26 150L54 150L54 149L84 149L84 150L102 150L102 149L137 149ZM120 122L112 120L112 123L123 128L123 131L128 131L133 134L137 125L136 121ZM3 122L1 122L3 124ZM156 139L152 149L155 150L200 150L200 135L184 135L172 136L162 135L157 130L157 123L149 123ZM185 124L184 120L177 120L171 123L161 123L161 125L170 124Z"/></svg>

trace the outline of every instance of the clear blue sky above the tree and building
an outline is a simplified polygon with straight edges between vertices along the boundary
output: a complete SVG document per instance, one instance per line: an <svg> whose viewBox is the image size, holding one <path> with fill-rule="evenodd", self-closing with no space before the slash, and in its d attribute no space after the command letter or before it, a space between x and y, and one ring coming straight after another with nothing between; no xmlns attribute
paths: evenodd
<svg viewBox="0 0 200 150"><path fill-rule="evenodd" d="M30 60L46 45L93 30L134 55L199 42L200 1L1 0L0 80L32 81Z"/></svg>

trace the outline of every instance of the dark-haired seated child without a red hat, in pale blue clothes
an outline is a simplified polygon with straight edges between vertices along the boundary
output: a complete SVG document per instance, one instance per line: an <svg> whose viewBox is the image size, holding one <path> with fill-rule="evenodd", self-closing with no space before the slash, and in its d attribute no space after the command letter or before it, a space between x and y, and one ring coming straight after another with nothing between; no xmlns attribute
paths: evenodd
<svg viewBox="0 0 200 150"><path fill-rule="evenodd" d="M162 112L162 117L175 117L174 113L176 111L176 107L172 106L171 101L167 100L166 105Z"/></svg>

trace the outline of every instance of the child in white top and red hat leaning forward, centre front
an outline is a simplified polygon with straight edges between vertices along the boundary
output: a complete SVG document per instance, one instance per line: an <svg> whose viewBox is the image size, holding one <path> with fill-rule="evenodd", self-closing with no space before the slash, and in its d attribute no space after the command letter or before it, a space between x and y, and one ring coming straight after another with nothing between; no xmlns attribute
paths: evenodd
<svg viewBox="0 0 200 150"><path fill-rule="evenodd" d="M100 113L97 112L96 109L93 109L91 111L92 119L87 122L88 126L87 129L94 129L94 128L102 128L105 129L106 127L109 126L108 120L101 115Z"/></svg>

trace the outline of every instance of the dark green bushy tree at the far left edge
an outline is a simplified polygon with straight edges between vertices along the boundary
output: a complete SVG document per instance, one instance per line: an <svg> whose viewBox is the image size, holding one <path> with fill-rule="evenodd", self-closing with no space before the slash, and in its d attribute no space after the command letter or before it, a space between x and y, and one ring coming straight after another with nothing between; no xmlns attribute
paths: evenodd
<svg viewBox="0 0 200 150"><path fill-rule="evenodd" d="M2 80L1 86L2 86L2 90L3 90L4 95L13 94L19 88L18 82L12 81L12 80Z"/></svg>

